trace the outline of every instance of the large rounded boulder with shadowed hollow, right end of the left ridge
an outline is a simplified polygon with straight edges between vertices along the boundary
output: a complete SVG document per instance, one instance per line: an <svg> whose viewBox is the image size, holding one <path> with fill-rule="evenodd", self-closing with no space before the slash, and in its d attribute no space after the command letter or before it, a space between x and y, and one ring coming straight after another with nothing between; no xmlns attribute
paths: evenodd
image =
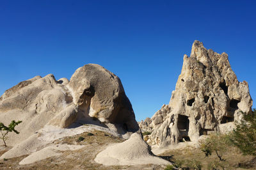
<svg viewBox="0 0 256 170"><path fill-rule="evenodd" d="M78 68L68 88L74 96L74 104L83 114L103 123L119 125L129 132L138 130L132 105L120 79L106 68L95 64Z"/></svg>

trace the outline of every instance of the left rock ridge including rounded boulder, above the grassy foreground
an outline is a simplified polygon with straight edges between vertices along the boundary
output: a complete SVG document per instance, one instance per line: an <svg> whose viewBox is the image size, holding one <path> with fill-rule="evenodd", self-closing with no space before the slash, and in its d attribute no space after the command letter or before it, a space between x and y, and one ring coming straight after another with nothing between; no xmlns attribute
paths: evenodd
<svg viewBox="0 0 256 170"><path fill-rule="evenodd" d="M139 130L120 79L94 64L78 68L70 82L49 74L6 90L0 97L0 121L8 125L12 120L22 121L20 134L10 134L12 146L45 125L67 128L75 121L98 123L122 135Z"/></svg>

